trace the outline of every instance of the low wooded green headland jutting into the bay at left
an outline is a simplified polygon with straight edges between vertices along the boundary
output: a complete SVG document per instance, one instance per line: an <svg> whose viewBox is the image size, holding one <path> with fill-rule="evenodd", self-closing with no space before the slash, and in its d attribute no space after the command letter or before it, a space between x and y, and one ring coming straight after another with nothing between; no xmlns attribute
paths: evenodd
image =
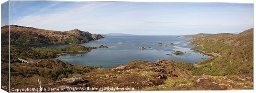
<svg viewBox="0 0 256 93"><path fill-rule="evenodd" d="M3 46L1 51L7 51L8 47ZM76 44L71 44L69 46L62 46L59 48L50 48L50 47L33 47L33 48L18 48L11 46L11 63L17 62L18 58L22 59L40 59L40 58L54 58L59 56L61 53L68 53L68 52L82 52L86 53L91 51L92 49L95 49L95 47L90 46L81 46ZM8 56L8 53L2 53L2 60L8 60L4 56Z"/></svg>

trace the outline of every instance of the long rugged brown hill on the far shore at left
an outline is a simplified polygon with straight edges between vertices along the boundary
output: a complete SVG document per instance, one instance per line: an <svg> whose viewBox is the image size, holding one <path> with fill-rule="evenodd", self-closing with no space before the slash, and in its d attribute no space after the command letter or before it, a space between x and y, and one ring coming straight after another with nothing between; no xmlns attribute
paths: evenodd
<svg viewBox="0 0 256 93"><path fill-rule="evenodd" d="M32 27L10 25L11 45L78 44L104 38L78 29L69 31L44 30ZM8 44L8 26L1 27L2 45Z"/></svg>

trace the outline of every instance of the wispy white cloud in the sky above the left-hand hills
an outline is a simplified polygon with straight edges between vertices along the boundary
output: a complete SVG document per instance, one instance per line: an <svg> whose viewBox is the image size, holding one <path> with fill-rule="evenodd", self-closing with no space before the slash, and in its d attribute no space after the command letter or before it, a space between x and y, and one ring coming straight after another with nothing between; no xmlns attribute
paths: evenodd
<svg viewBox="0 0 256 93"><path fill-rule="evenodd" d="M12 21L10 23L43 29L50 28L50 30L72 30L79 25L96 25L97 23L88 23L86 19L83 19L83 16L89 14L88 12L108 4L110 3L78 4L73 7L62 9L59 13L32 14L23 16L17 20L11 19ZM47 9L47 7L41 9L41 11L44 11L45 9Z"/></svg>

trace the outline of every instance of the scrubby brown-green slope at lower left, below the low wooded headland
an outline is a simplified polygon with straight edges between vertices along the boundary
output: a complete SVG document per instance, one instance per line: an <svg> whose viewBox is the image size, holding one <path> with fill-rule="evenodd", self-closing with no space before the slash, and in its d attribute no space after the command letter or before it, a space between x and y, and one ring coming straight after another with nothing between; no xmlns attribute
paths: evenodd
<svg viewBox="0 0 256 93"><path fill-rule="evenodd" d="M39 63L11 64L11 84L38 84L38 78L43 84L88 73L97 69L93 66L78 66L60 60L41 60Z"/></svg>

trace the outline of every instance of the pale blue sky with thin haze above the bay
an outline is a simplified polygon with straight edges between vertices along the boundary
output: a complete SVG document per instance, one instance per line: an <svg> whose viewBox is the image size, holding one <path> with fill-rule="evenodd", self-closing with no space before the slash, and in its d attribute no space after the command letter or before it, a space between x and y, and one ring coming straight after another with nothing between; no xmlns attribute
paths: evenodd
<svg viewBox="0 0 256 93"><path fill-rule="evenodd" d="M238 33L254 27L253 7L252 3L10 1L10 24L98 34Z"/></svg>

